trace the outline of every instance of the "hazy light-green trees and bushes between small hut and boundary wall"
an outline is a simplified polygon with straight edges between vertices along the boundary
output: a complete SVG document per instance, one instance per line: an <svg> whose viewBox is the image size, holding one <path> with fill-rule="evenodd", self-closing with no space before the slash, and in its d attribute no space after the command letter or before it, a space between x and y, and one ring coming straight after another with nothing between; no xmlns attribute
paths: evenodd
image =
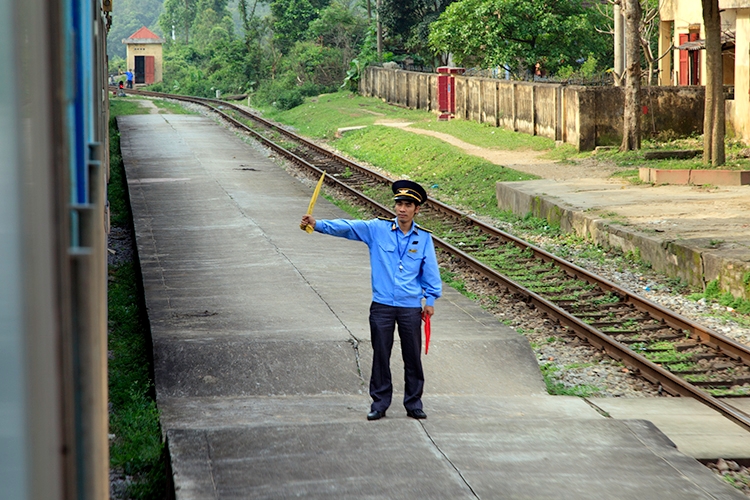
<svg viewBox="0 0 750 500"><path fill-rule="evenodd" d="M250 93L285 109L338 88L368 27L341 0L166 0L159 23L175 36L155 90Z"/></svg>

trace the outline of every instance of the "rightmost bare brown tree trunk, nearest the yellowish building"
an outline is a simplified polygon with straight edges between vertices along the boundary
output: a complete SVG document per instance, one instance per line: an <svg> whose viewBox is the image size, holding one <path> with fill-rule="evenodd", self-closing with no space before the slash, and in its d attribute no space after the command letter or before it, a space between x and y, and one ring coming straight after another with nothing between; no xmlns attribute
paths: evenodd
<svg viewBox="0 0 750 500"><path fill-rule="evenodd" d="M721 15L718 0L701 0L706 30L706 100L703 112L703 162L713 166L726 161Z"/></svg>

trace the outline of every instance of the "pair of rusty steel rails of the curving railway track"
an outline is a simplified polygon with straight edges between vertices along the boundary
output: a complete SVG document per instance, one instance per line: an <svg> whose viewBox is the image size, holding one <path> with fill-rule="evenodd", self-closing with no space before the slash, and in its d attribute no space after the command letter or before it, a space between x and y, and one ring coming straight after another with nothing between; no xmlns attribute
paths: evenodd
<svg viewBox="0 0 750 500"><path fill-rule="evenodd" d="M320 146L302 137L299 137L293 132L285 130L282 127L279 127L278 125L272 122L269 122L261 117L258 117L257 115L253 113L250 113L232 104L225 103L222 101L216 101L213 99L178 96L178 95L172 95L172 94L161 94L157 92L135 91L135 92L129 92L129 93L143 94L143 95L154 96L154 97L167 97L167 98L183 100L183 101L188 101L188 102L192 102L195 104L207 106L212 111L221 115L224 119L226 119L230 123L250 133L254 138L257 138L265 146L289 158L294 163L300 165L301 167L304 167L306 169L313 171L316 175L320 175L323 173L322 169L307 162L300 156L288 151L287 149L276 144L270 139L264 137L262 134L252 130L250 127L248 127L244 123L240 122L239 120L228 115L227 113L224 113L222 110L212 105L215 103L219 103L222 106L227 106L232 109L235 109L236 111L240 112L241 114L245 116L248 116L249 118L253 120L261 121L265 126L283 133L285 136L289 137L290 139L297 141L297 142L301 142L306 147L313 149L316 152L325 155L326 157L329 157L335 161L344 163L347 166L353 167L357 171L365 173L366 175L372 177L375 180L378 180L379 182L383 182L383 183L390 182L388 178L378 174L377 172L374 172L368 168L365 168L361 165L351 162L350 160L347 160L343 157L340 157L331 151L321 148ZM207 103L211 103L211 104L207 104ZM395 216L394 212L391 211L386 206L364 195L363 193L355 190L354 188L350 187L346 183L336 179L333 176L326 176L325 183L329 185L333 185L339 189L342 189L345 192L349 193L351 196L354 196L358 199L363 200L376 213L379 213L384 216L389 216L389 217ZM521 240L520 238L513 236L509 233L506 233L505 231L502 231L493 226L490 226L476 219L475 217L472 217L467 214L463 214L462 212L440 201L430 199L428 200L428 203L432 209L435 209L436 211L441 212L445 215L448 215L452 218L455 218L457 220L469 220L473 226L479 228L484 233L497 237L506 242L512 243L518 246L519 248L529 249L531 250L532 254L536 258L541 259L545 262L554 263L559 268L563 269L564 272L568 276L576 278L576 279L581 279L588 283L596 284L597 286L601 287L602 289L606 291L615 293L621 298L621 301L623 303L633 305L636 309L652 315L654 318L665 322L667 325L671 326L672 328L688 331L692 334L695 334L703 343L711 347L714 347L715 349L721 350L722 352L724 352L725 354L727 354L728 356L734 359L741 360L746 364L750 364L750 349L748 349L748 347L741 345L735 342L734 340L728 337L725 337L717 332L713 332L701 325L698 325L673 311L669 311L663 308L662 306L649 301L648 299L639 297L633 294L632 292L610 282L609 280L606 280L600 276L596 276L595 274L581 267L578 267L577 265L571 262L561 259L560 257L557 257L556 255L553 255L547 252L546 250L543 250L529 242ZM453 245L442 240L441 238L437 236L433 236L433 238L435 240L436 248L442 249L443 251L449 253L450 255L457 257L469 268L479 272L480 274L484 276L487 276L488 278L492 279L495 283L497 283L499 286L506 288L512 293L525 297L531 304L534 305L535 308L537 308L538 310L542 311L544 314L546 314L550 318L557 321L560 325L571 329L577 335L591 342L597 348L605 350L611 357L621 360L625 364L629 365L630 367L637 369L640 372L640 374L643 375L646 379L650 380L653 383L661 384L664 389L666 389L668 392L672 394L695 398L699 400L700 402L702 402L703 404L705 404L706 406L721 413L726 418L740 425L744 429L750 431L750 415L742 412L741 410L738 410L737 408L733 406L730 406L724 403L720 399L711 396L710 394L700 390L699 388L690 384L689 382L686 382L685 380L665 370L658 364L649 361L644 356L641 356L640 354L634 352L633 350L631 350L624 344L616 341L609 335L592 327L591 325L584 323L580 319L576 318L574 315L568 313L564 309L555 305L553 302L544 299L543 297L529 290L523 285L520 285L516 283L515 281L513 281L512 279L498 273L494 269L486 266L485 264L478 261L474 257L471 257L469 254L454 247Z"/></svg>

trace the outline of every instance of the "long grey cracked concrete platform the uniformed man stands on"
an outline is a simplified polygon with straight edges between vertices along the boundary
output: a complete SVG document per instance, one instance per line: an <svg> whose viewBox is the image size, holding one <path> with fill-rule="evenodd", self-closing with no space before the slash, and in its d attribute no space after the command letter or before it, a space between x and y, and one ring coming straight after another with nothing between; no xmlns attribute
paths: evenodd
<svg viewBox="0 0 750 500"><path fill-rule="evenodd" d="M653 424L546 395L525 338L451 289L429 418L396 387L366 421L366 247L300 231L312 186L209 119L118 123L178 499L744 498Z"/></svg>

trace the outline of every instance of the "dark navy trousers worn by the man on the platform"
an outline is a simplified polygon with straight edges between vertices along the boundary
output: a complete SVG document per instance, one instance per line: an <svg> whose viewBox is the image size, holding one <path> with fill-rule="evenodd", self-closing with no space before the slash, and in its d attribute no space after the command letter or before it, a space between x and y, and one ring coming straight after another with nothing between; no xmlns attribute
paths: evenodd
<svg viewBox="0 0 750 500"><path fill-rule="evenodd" d="M372 411L382 412L391 405L391 351L396 325L404 359L404 407L407 410L422 409L422 308L394 307L373 302L370 305L370 339L373 349L370 376Z"/></svg>

